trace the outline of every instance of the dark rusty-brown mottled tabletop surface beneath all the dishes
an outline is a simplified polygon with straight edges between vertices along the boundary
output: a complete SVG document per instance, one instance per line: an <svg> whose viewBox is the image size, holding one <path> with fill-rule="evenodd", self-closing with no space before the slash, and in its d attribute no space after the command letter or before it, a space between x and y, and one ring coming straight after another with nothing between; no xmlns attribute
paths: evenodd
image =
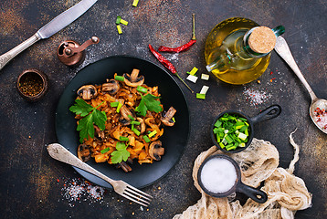
<svg viewBox="0 0 327 219"><path fill-rule="evenodd" d="M0 53L32 36L38 28L78 2L1 1ZM206 36L217 23L241 16L264 26L285 26L284 37L304 77L318 97L327 99L326 9L326 2L322 0L140 0L137 7L132 6L132 0L99 0L74 23L26 49L0 71L1 218L172 218L200 198L193 185L192 167L196 156L213 144L209 127L216 115L223 110L239 109L253 116L276 103L282 108L280 117L256 125L255 137L273 143L280 151L280 166L286 168L293 157L289 135L297 129L294 140L301 145L301 152L295 174L305 181L313 199L311 208L295 216L326 218L327 135L318 130L309 117L308 92L275 52L272 52L269 68L259 78L260 84L254 81L231 86L212 76L208 81L188 82L197 92L203 85L209 86L206 100L195 99L195 95L177 81L188 102L190 138L180 162L171 172L143 189L154 196L148 208L121 199L110 191L100 194L101 188L95 193L84 190L83 195L74 199L74 194L81 190L78 185L87 183L69 165L50 158L46 150L48 143L57 141L55 110L60 93L79 69L112 55L132 55L158 63L149 52L148 44L174 47L186 43L191 36L193 13L196 44L178 56L165 55L182 78L193 67L206 72ZM118 35L115 26L118 15L129 21L128 26L122 26L122 35ZM59 62L56 50L60 42L66 39L84 42L90 36L99 36L100 44L87 48L82 65L69 68ZM26 68L42 70L49 78L47 95L35 103L22 99L16 90L16 78ZM258 99L251 102L249 90L265 93L267 98L262 99L262 103ZM96 189L96 185L90 185L90 190Z"/></svg>

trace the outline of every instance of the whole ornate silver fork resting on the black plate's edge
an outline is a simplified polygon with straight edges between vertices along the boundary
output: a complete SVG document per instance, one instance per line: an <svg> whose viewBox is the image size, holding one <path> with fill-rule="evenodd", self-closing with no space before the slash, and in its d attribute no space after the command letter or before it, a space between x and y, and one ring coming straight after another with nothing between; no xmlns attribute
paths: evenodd
<svg viewBox="0 0 327 219"><path fill-rule="evenodd" d="M52 158L60 162L66 162L70 165L76 166L81 170L90 172L105 180L106 182L111 183L113 190L116 193L121 194L121 196L131 200L132 202L139 203L143 206L148 206L153 198L153 196L150 194L143 193L141 190L136 189L128 183L112 180L108 176L98 172L94 168L90 167L90 165L87 163L80 161L78 157L76 157L74 154L72 154L70 151L58 143L47 145L47 151Z"/></svg>

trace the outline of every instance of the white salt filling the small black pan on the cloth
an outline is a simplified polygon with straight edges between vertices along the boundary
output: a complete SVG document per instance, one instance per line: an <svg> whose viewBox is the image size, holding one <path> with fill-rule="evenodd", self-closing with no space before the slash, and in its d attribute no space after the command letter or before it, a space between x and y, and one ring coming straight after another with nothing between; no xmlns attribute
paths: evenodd
<svg viewBox="0 0 327 219"><path fill-rule="evenodd" d="M227 159L214 158L203 166L200 177L211 193L226 193L237 182L237 171Z"/></svg>

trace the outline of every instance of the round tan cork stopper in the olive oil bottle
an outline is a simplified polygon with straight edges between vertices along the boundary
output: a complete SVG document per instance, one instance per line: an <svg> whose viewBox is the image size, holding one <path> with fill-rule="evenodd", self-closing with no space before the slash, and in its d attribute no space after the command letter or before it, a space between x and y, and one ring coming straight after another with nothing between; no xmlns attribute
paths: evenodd
<svg viewBox="0 0 327 219"><path fill-rule="evenodd" d="M257 53L269 53L274 49L276 36L267 26L258 26L254 28L248 37L248 46Z"/></svg>

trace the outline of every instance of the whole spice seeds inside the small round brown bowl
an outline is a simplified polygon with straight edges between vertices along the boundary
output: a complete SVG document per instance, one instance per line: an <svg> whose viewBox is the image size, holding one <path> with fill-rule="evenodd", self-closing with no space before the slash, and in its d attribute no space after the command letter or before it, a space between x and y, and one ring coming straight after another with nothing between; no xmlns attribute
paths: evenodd
<svg viewBox="0 0 327 219"><path fill-rule="evenodd" d="M33 72L26 73L20 78L18 87L24 95L35 97L43 90L43 80Z"/></svg>

